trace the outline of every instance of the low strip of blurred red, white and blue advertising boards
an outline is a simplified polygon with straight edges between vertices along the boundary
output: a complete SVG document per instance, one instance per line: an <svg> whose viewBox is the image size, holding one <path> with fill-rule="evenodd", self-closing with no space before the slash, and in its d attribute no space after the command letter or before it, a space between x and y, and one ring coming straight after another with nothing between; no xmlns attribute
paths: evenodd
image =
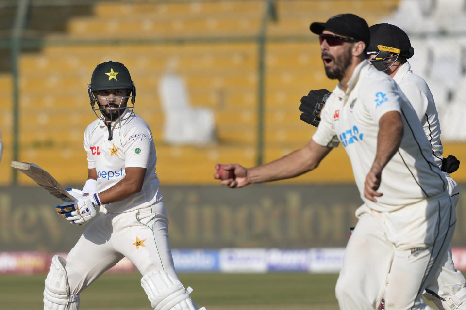
<svg viewBox="0 0 466 310"><path fill-rule="evenodd" d="M173 249L175 269L180 273L336 273L341 269L345 248L220 248ZM55 253L0 252L1 274L37 274L50 268ZM59 253L66 257L67 253ZM452 248L455 268L466 271L466 248ZM135 272L123 258L109 273Z"/></svg>

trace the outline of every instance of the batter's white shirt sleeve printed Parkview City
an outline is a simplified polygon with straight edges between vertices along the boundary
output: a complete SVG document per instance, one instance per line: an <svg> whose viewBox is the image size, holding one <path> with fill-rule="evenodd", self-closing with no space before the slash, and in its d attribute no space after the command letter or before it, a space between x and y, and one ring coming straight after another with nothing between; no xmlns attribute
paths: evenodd
<svg viewBox="0 0 466 310"><path fill-rule="evenodd" d="M152 132L147 126L131 128L125 135L125 167L148 168L150 152L153 151Z"/></svg>

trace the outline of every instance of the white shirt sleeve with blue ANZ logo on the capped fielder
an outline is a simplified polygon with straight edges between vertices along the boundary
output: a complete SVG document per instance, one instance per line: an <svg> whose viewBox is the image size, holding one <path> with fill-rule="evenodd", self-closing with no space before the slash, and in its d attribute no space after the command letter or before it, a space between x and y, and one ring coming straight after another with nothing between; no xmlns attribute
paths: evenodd
<svg viewBox="0 0 466 310"><path fill-rule="evenodd" d="M376 124L387 112L401 113L401 104L407 100L396 82L388 76L381 80L370 80L366 87L360 88L359 96Z"/></svg>

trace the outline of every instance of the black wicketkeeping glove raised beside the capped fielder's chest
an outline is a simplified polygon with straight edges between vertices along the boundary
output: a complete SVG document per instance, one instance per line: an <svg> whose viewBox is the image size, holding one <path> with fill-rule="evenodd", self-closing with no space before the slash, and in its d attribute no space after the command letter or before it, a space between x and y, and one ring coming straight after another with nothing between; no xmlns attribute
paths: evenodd
<svg viewBox="0 0 466 310"><path fill-rule="evenodd" d="M319 126L320 111L324 107L325 101L332 92L326 89L311 90L307 96L301 98L300 111L302 112L300 119L315 127Z"/></svg>

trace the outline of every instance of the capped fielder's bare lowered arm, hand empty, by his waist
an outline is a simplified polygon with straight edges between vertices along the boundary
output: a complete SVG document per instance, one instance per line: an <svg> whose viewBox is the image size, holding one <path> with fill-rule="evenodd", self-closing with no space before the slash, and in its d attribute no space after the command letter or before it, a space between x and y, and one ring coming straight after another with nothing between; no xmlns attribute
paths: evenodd
<svg viewBox="0 0 466 310"><path fill-rule="evenodd" d="M390 111L379 120L379 133L377 134L377 153L374 162L367 173L364 182L364 197L377 202L375 197L383 193L377 192L382 181L382 170L398 151L403 138L403 121L398 111Z"/></svg>

